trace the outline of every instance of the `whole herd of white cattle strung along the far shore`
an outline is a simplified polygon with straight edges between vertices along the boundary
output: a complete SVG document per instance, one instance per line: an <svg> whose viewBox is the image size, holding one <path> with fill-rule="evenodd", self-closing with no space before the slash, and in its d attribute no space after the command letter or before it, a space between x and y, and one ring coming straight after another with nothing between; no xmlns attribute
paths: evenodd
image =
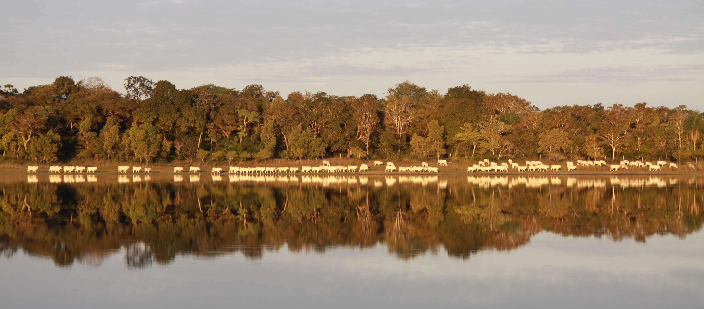
<svg viewBox="0 0 704 309"><path fill-rule="evenodd" d="M577 166L607 166L610 165L610 171L618 171L619 169L648 169L648 171L660 171L662 166L667 165L668 163L665 161L658 161L655 164L652 164L650 162L641 162L641 161L629 161L629 160L623 160L620 162L619 165L615 164L606 164L605 161L589 161L589 160L577 160L577 165L574 165L572 162L567 162L567 171L574 171L577 169ZM381 161L375 161L374 166L383 166L384 162ZM437 165L438 166L447 166L447 161L443 159L437 160ZM678 169L679 167L677 164L670 163L668 165L670 169ZM693 164L689 164L689 167L694 168ZM39 166L27 166L27 173L37 173L37 170L39 169ZM482 172L508 172L509 169L516 169L517 171L559 171L562 169L562 165L546 165L543 164L543 162L540 161L526 161L526 164L524 166L520 166L520 164L513 162L513 160L508 160L508 162L502 162L502 163L496 163L496 162L490 162L489 159L484 159L483 161L479 161L477 164L472 164L472 166L467 167L467 173L473 173L477 171L482 171ZM83 171L86 171L86 173L94 173L97 171L98 168L95 166L49 166L49 172L50 173L82 173ZM118 173L127 173L127 171L130 170L130 166L126 165L121 165L118 166ZM175 166L174 167L174 173L181 173L184 170L183 167L181 166ZM438 173L439 170L437 167L434 166L429 166L427 162L422 162L421 166L398 166L396 167L396 164L394 162L386 162L386 168L384 171L413 171L413 172L429 172L429 173ZM149 167L144 167L142 168L141 166L132 166L132 173L139 173L144 171L144 173L149 173L151 172L151 168ZM189 167L189 173L200 173L201 168L198 166L190 166ZM369 171L369 166L367 164L361 164L360 166L355 166L355 165L348 165L348 166L333 166L330 164L329 161L323 160L322 164L320 166L301 166L299 169L298 167L239 167L239 166L230 166L230 170L228 173L238 173L238 174L254 174L254 173L297 173L298 171L301 171L301 173L320 173L321 171L327 172L327 173L338 173L338 172L364 172L364 171ZM221 173L222 172L222 167L213 167L213 169L210 171L210 173Z"/></svg>

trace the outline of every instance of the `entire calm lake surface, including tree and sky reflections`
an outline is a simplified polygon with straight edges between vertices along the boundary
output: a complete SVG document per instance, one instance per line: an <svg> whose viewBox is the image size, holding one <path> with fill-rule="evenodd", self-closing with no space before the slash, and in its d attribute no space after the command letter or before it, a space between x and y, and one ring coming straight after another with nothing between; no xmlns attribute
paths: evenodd
<svg viewBox="0 0 704 309"><path fill-rule="evenodd" d="M703 308L704 178L4 176L3 308Z"/></svg>

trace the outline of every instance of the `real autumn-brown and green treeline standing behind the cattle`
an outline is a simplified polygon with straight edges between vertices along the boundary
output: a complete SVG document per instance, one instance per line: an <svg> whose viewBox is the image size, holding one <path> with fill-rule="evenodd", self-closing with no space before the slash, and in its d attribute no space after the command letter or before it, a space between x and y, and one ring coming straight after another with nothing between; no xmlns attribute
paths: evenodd
<svg viewBox="0 0 704 309"><path fill-rule="evenodd" d="M676 108L564 105L539 110L510 93L470 86L442 94L405 81L375 95L282 96L249 85L178 89L125 79L127 95L97 77L20 93L0 88L6 162L239 162L320 157L669 159L704 155L704 117Z"/></svg>

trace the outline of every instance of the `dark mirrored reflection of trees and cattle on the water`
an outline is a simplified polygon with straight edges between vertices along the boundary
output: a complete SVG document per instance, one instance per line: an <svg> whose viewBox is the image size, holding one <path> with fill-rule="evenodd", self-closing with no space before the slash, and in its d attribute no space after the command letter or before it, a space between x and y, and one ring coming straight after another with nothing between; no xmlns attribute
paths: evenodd
<svg viewBox="0 0 704 309"><path fill-rule="evenodd" d="M99 264L123 249L130 268L178 254L256 259L284 244L291 251L383 244L401 259L438 250L469 258L515 249L541 231L645 242L686 237L704 219L703 178L148 177L120 175L118 185L96 176L27 176L0 184L0 251L21 246L72 265Z"/></svg>

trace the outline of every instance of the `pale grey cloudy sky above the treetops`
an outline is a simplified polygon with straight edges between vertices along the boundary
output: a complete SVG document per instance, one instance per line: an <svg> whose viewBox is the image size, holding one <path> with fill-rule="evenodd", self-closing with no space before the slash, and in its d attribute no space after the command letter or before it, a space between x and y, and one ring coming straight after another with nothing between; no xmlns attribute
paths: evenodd
<svg viewBox="0 0 704 309"><path fill-rule="evenodd" d="M704 110L704 1L4 1L0 84L384 96L467 84L546 108Z"/></svg>

